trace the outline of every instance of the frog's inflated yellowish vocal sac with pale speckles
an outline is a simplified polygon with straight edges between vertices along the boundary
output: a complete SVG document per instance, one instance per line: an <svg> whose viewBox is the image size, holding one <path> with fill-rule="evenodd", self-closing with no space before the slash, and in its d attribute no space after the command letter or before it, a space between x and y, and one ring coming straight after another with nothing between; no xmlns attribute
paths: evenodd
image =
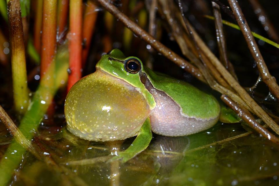
<svg viewBox="0 0 279 186"><path fill-rule="evenodd" d="M68 130L86 140L135 136L149 114L146 99L135 87L98 69L78 81L65 101Z"/></svg>

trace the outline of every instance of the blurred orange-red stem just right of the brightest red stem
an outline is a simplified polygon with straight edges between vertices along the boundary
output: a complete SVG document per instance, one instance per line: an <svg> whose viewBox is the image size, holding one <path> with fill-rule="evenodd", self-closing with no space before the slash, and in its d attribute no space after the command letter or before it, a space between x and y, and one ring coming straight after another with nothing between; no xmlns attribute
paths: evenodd
<svg viewBox="0 0 279 186"><path fill-rule="evenodd" d="M82 66L85 66L85 62L88 56L88 51L90 48L92 34L95 30L95 23L97 18L97 11L95 11L96 5L92 3L92 1L87 1L87 6L84 12L84 19L83 19L83 51L82 51Z"/></svg>

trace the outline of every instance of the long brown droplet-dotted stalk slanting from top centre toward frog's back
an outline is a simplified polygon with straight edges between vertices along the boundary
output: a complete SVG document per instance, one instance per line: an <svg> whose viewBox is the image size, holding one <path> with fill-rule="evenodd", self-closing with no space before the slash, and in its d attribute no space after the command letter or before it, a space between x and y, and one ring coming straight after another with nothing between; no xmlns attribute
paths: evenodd
<svg viewBox="0 0 279 186"><path fill-rule="evenodd" d="M181 58L174 51L171 51L169 48L164 46L161 42L157 41L154 37L149 35L146 31L140 28L135 22L131 21L126 15L120 12L114 5L107 0L97 0L106 10L112 13L117 19L119 19L126 27L131 29L136 35L140 36L148 44L150 44L154 49L159 53L162 53L169 60L173 61L176 65L183 68L185 71L192 74L194 77L199 79L202 82L205 82L204 77L201 72L191 65L189 62Z"/></svg>

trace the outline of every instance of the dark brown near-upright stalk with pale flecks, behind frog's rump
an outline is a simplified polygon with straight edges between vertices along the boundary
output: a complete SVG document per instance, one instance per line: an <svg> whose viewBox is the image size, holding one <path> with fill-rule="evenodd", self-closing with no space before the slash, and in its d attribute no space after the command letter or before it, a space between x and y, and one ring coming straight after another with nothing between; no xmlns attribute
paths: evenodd
<svg viewBox="0 0 279 186"><path fill-rule="evenodd" d="M223 65L226 67L226 69L228 69L230 74L232 74L232 76L237 80L237 76L235 74L234 68L227 56L227 45L226 45L225 34L223 31L223 23L222 23L220 7L216 3L212 2L212 8L215 17L214 22L216 28L216 37L217 37L217 43L219 48L220 60L221 62L223 62Z"/></svg>

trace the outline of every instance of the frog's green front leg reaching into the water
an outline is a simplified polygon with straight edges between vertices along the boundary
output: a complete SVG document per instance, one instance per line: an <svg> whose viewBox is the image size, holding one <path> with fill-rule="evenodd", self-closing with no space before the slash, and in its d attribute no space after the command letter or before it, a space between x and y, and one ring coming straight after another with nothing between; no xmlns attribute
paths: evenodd
<svg viewBox="0 0 279 186"><path fill-rule="evenodd" d="M144 124L140 128L140 132L137 135L136 139L133 141L133 143L123 152L119 152L117 156L110 159L110 161L113 160L121 160L122 163L127 162L128 160L134 158L136 155L144 151L150 141L152 139L152 132L151 132L151 125L150 125L150 119L147 118L144 121Z"/></svg>

